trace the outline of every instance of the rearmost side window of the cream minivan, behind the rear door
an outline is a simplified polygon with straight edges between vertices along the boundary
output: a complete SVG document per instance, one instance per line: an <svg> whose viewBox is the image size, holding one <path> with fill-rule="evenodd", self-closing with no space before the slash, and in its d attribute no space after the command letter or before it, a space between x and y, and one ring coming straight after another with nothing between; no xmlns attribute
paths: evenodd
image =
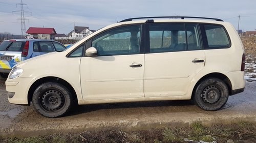
<svg viewBox="0 0 256 143"><path fill-rule="evenodd" d="M204 25L207 38L205 49L220 49L230 46L230 41L225 29L219 25Z"/></svg>

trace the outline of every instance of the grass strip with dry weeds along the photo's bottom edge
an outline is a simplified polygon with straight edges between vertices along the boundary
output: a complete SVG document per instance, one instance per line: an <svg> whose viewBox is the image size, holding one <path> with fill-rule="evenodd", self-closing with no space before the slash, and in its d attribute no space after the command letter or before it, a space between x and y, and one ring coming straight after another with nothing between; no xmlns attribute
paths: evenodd
<svg viewBox="0 0 256 143"><path fill-rule="evenodd" d="M24 138L1 138L0 142L254 142L256 140L256 122L239 121L225 125L204 126L194 122L188 127L165 127L151 130L122 131L99 130L82 133L53 134ZM191 141L193 140L193 141Z"/></svg>

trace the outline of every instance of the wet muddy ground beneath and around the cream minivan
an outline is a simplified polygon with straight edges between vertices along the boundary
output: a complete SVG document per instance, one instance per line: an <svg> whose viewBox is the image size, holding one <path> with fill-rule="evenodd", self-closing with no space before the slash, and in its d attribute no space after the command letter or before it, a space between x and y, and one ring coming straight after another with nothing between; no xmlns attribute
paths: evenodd
<svg viewBox="0 0 256 143"><path fill-rule="evenodd" d="M248 63L250 61L250 63ZM253 64L251 64L253 63ZM246 89L229 97L219 111L204 111L190 101L158 101L78 106L60 118L46 118L32 106L8 103L5 79L0 78L0 136L34 136L85 130L148 130L204 125L256 122L255 57L247 58ZM252 69L249 69L252 68Z"/></svg>

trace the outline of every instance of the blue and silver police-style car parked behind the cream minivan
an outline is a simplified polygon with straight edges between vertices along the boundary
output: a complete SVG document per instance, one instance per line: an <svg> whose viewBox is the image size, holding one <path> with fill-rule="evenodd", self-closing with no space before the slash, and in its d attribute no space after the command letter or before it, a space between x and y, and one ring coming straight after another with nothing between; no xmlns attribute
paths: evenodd
<svg viewBox="0 0 256 143"><path fill-rule="evenodd" d="M45 39L11 39L0 44L0 75L7 77L12 67L26 59L54 51L63 51L61 43Z"/></svg>

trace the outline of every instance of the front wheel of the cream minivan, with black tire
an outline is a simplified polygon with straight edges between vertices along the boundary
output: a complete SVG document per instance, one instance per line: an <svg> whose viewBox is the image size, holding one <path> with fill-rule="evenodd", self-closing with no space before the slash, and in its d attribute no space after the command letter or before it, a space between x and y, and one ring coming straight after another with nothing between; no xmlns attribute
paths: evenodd
<svg viewBox="0 0 256 143"><path fill-rule="evenodd" d="M34 91L32 103L38 113L46 117L65 115L72 105L72 94L62 84L46 82Z"/></svg>

